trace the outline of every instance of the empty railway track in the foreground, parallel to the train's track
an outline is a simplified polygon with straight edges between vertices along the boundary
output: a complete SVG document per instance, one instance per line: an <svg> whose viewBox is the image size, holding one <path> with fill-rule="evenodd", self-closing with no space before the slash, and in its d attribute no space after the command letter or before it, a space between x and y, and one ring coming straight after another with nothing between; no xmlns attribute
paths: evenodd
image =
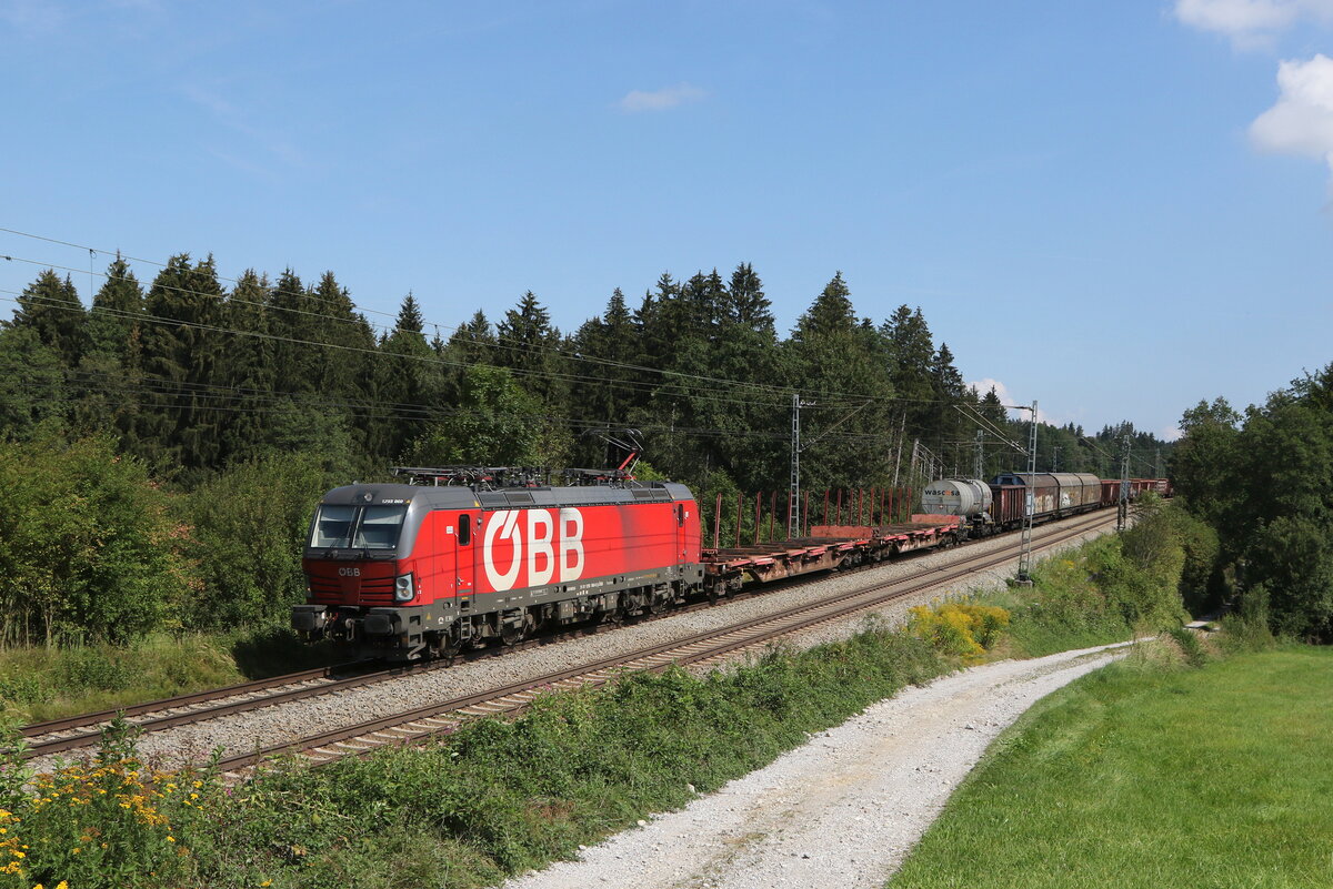
<svg viewBox="0 0 1333 889"><path fill-rule="evenodd" d="M1092 519L1085 518L1072 526L1061 526L1056 534L1044 538L1037 548L1057 546L1113 520L1114 516L1108 518L1097 514ZM762 649L782 636L869 612L894 599L936 588L977 571L1008 564L1013 562L1017 548L1018 544L1013 543L1002 550L969 556L922 575L845 594L820 606L800 606L592 664L561 669L475 695L232 756L221 760L219 768L228 780L240 781L260 763L275 756L295 755L312 764L323 765L347 756L365 756L385 747L420 744L448 735L467 720L479 716L517 715L545 691L603 685L625 671L656 672L666 669L672 664L706 669L724 659Z"/></svg>

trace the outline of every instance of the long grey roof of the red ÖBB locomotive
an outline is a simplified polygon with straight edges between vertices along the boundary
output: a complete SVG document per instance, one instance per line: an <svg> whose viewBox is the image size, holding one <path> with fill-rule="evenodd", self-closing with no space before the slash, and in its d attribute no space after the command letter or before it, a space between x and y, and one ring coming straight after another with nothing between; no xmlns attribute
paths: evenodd
<svg viewBox="0 0 1333 889"><path fill-rule="evenodd" d="M504 510L523 506L592 506L595 503L640 503L693 500L684 484L652 482L643 487L611 487L588 484L583 487L527 487L499 491L473 491L461 484L348 484L324 495L324 503L415 503L431 508L483 506Z"/></svg>

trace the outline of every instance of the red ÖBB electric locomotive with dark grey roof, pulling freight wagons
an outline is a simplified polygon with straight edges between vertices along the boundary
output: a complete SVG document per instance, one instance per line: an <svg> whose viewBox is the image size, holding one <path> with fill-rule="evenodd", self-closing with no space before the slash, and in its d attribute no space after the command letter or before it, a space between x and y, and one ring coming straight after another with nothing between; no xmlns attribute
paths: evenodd
<svg viewBox="0 0 1333 889"><path fill-rule="evenodd" d="M412 660L619 620L698 594L700 523L684 484L496 487L497 470L399 470L416 484L324 495L292 627L360 656Z"/></svg>

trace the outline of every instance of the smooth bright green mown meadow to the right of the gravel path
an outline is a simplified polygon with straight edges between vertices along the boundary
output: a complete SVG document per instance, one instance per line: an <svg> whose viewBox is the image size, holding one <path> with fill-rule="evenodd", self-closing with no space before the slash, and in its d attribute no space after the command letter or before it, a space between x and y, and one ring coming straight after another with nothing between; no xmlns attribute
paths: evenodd
<svg viewBox="0 0 1333 889"><path fill-rule="evenodd" d="M1333 649L1126 663L1004 735L893 889L1333 886Z"/></svg>

